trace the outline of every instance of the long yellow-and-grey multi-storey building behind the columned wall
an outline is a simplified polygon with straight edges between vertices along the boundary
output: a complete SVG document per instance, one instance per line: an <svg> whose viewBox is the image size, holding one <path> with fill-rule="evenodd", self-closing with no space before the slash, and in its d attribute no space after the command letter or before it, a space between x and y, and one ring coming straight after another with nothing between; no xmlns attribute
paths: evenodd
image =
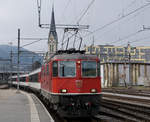
<svg viewBox="0 0 150 122"><path fill-rule="evenodd" d="M97 54L101 62L137 62L150 63L150 46L132 47L114 45L86 46L87 54Z"/></svg>

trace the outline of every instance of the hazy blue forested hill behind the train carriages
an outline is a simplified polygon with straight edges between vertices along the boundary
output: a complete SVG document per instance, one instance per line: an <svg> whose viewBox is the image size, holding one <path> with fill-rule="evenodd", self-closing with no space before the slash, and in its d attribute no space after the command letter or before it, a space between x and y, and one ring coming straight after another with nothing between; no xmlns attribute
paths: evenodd
<svg viewBox="0 0 150 122"><path fill-rule="evenodd" d="M17 46L9 46L9 45L0 45L0 59L10 59L11 48L13 52L13 70L17 70ZM20 48L20 70L28 71L31 70L32 64L34 62L42 63L43 57L39 54L31 52L27 49ZM10 61L1 61L0 60L0 71L10 70Z"/></svg>

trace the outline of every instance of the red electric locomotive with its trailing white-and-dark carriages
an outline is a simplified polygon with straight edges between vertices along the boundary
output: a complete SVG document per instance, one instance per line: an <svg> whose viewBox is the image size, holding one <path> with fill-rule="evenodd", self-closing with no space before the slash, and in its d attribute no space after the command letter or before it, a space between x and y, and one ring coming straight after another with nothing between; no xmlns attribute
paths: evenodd
<svg viewBox="0 0 150 122"><path fill-rule="evenodd" d="M100 60L85 51L58 51L41 68L20 75L30 89L62 117L91 117L101 104ZM12 76L17 85L17 76Z"/></svg>

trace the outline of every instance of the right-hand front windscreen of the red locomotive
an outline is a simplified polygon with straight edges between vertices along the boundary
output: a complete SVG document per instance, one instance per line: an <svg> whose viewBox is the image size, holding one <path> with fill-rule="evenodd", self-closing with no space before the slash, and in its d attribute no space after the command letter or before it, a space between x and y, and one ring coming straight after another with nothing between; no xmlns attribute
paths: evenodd
<svg viewBox="0 0 150 122"><path fill-rule="evenodd" d="M82 76L96 77L96 61L82 61Z"/></svg>

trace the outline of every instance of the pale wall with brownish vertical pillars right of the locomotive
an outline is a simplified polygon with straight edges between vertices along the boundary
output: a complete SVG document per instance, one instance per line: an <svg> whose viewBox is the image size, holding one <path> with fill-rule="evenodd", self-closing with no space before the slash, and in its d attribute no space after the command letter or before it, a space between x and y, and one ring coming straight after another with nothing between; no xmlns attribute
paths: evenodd
<svg viewBox="0 0 150 122"><path fill-rule="evenodd" d="M129 81L128 63L101 64L102 87L129 85L150 86L150 64L131 63Z"/></svg>

